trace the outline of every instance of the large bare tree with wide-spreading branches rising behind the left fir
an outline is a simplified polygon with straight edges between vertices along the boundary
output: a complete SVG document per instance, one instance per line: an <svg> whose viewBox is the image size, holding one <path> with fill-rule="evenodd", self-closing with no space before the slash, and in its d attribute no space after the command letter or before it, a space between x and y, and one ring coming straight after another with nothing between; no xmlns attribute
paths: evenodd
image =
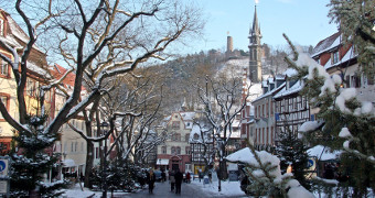
<svg viewBox="0 0 375 198"><path fill-rule="evenodd" d="M11 65L17 82L17 100L19 103L19 120L8 112L0 101L0 111L4 120L20 133L30 133L25 124L28 117L24 89L26 84L28 59L32 46L39 41L50 43L50 57L62 58L69 67L67 73L75 73L73 91L66 91L66 103L42 133L56 133L62 124L84 112L87 133L79 134L87 141L87 156L94 153L93 142L106 140L115 130L99 138L94 138L92 128L100 129L100 99L111 88L104 86L107 79L133 70L150 58L164 59L165 48L173 42L191 34L196 34L203 28L200 12L191 4L174 1L144 0L124 2L120 0L93 1L53 1L50 0L33 7L46 16L30 18L28 4L22 0L15 2L15 10L21 15L28 30L23 48L15 48L3 40L0 44L12 53L13 59L0 53L0 58ZM38 11L38 10L36 10ZM39 40L43 38L43 41ZM46 40L46 41L45 41ZM52 88L63 89L61 81L65 78L51 80L41 88L40 108L45 113L44 92ZM87 86L87 95L82 98L82 87ZM85 109L89 107L89 111ZM121 112L120 114L133 112ZM94 121L96 123L94 124ZM86 174L93 162L88 162ZM85 183L86 185L87 183Z"/></svg>

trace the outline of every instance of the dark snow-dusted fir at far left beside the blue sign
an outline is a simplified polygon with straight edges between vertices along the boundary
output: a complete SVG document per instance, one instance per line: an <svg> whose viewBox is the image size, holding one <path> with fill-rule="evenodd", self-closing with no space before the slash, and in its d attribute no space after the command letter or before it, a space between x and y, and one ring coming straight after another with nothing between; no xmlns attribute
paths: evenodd
<svg viewBox="0 0 375 198"><path fill-rule="evenodd" d="M14 197L56 197L63 191L58 190L67 186L67 182L57 180L44 183L44 176L56 168L57 155L49 155L45 150L53 146L58 133L44 133L45 116L30 116L26 125L30 131L21 131L13 138L19 147L11 152L11 195Z"/></svg>

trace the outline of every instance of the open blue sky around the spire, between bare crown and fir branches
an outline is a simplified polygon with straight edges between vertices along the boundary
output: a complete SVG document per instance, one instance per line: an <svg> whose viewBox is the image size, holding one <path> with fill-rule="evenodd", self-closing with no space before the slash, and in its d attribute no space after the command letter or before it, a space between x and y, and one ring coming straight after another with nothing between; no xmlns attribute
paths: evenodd
<svg viewBox="0 0 375 198"><path fill-rule="evenodd" d="M336 24L328 16L329 0L259 0L257 3L262 43L275 47L286 45L282 33L294 44L314 46L336 32ZM207 18L204 41L193 51L226 47L227 32L234 48L247 51L248 32L253 24L254 0L201 0L199 4Z"/></svg>

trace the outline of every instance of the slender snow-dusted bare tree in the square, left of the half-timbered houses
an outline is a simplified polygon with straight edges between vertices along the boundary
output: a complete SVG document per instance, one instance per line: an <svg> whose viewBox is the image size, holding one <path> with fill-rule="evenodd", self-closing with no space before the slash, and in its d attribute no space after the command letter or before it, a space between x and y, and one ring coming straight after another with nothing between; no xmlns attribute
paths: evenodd
<svg viewBox="0 0 375 198"><path fill-rule="evenodd" d="M213 80L206 76L206 84L199 88L199 96L205 106L204 114L214 130L214 142L219 161L219 180L227 177L226 145L229 142L235 117L244 109L248 94L242 97L243 81L240 78L218 76ZM248 91L247 91L248 92ZM221 187L219 189L221 190Z"/></svg>

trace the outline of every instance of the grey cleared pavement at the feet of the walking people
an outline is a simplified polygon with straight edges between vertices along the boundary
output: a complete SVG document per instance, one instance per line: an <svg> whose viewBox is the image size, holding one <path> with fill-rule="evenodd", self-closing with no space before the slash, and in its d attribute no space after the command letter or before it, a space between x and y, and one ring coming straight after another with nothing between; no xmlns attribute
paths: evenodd
<svg viewBox="0 0 375 198"><path fill-rule="evenodd" d="M164 183L156 183L156 188L153 189L153 194L149 194L148 188L144 188L141 191L138 191L136 194L130 194L125 197L206 198L206 197L213 197L213 196L210 196L207 193L202 191L201 188L194 188L194 185L186 184L186 183L182 183L181 195L176 195L174 191L173 193L171 191L171 185L169 184L169 182L164 182Z"/></svg>

